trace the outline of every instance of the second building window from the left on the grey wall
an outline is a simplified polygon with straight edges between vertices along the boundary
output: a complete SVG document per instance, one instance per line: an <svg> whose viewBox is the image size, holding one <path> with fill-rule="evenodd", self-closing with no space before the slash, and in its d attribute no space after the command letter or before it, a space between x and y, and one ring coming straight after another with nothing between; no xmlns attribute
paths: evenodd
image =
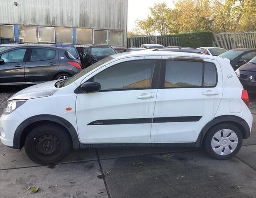
<svg viewBox="0 0 256 198"><path fill-rule="evenodd" d="M19 26L20 42L37 42L37 26Z"/></svg>

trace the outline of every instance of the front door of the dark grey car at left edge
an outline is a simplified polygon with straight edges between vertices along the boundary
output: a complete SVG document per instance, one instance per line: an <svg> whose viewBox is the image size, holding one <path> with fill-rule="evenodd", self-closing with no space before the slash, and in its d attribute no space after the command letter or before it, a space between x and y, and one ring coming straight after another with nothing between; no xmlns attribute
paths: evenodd
<svg viewBox="0 0 256 198"><path fill-rule="evenodd" d="M25 83L24 67L27 49L13 49L0 54L3 64L0 65L0 84Z"/></svg>

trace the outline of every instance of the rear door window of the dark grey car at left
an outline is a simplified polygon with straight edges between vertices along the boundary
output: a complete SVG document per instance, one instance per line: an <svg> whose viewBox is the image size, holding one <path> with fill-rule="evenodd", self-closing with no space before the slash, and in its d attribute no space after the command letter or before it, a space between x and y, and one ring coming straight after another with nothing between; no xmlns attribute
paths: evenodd
<svg viewBox="0 0 256 198"><path fill-rule="evenodd" d="M56 51L52 49L34 48L31 51L30 61L45 61L55 58Z"/></svg>

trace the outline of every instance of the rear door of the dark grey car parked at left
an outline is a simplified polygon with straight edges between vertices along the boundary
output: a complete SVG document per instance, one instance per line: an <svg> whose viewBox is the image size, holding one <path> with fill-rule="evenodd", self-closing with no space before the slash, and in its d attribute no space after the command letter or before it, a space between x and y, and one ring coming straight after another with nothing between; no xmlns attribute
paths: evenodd
<svg viewBox="0 0 256 198"><path fill-rule="evenodd" d="M40 83L54 79L54 72L59 67L58 51L33 47L30 49L25 66L26 83Z"/></svg>

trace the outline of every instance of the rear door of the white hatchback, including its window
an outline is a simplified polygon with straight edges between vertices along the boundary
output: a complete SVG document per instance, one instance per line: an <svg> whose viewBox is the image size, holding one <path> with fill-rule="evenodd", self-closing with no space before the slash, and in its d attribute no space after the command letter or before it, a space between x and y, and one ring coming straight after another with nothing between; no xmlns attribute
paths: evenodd
<svg viewBox="0 0 256 198"><path fill-rule="evenodd" d="M222 98L219 63L162 61L151 142L195 142Z"/></svg>

